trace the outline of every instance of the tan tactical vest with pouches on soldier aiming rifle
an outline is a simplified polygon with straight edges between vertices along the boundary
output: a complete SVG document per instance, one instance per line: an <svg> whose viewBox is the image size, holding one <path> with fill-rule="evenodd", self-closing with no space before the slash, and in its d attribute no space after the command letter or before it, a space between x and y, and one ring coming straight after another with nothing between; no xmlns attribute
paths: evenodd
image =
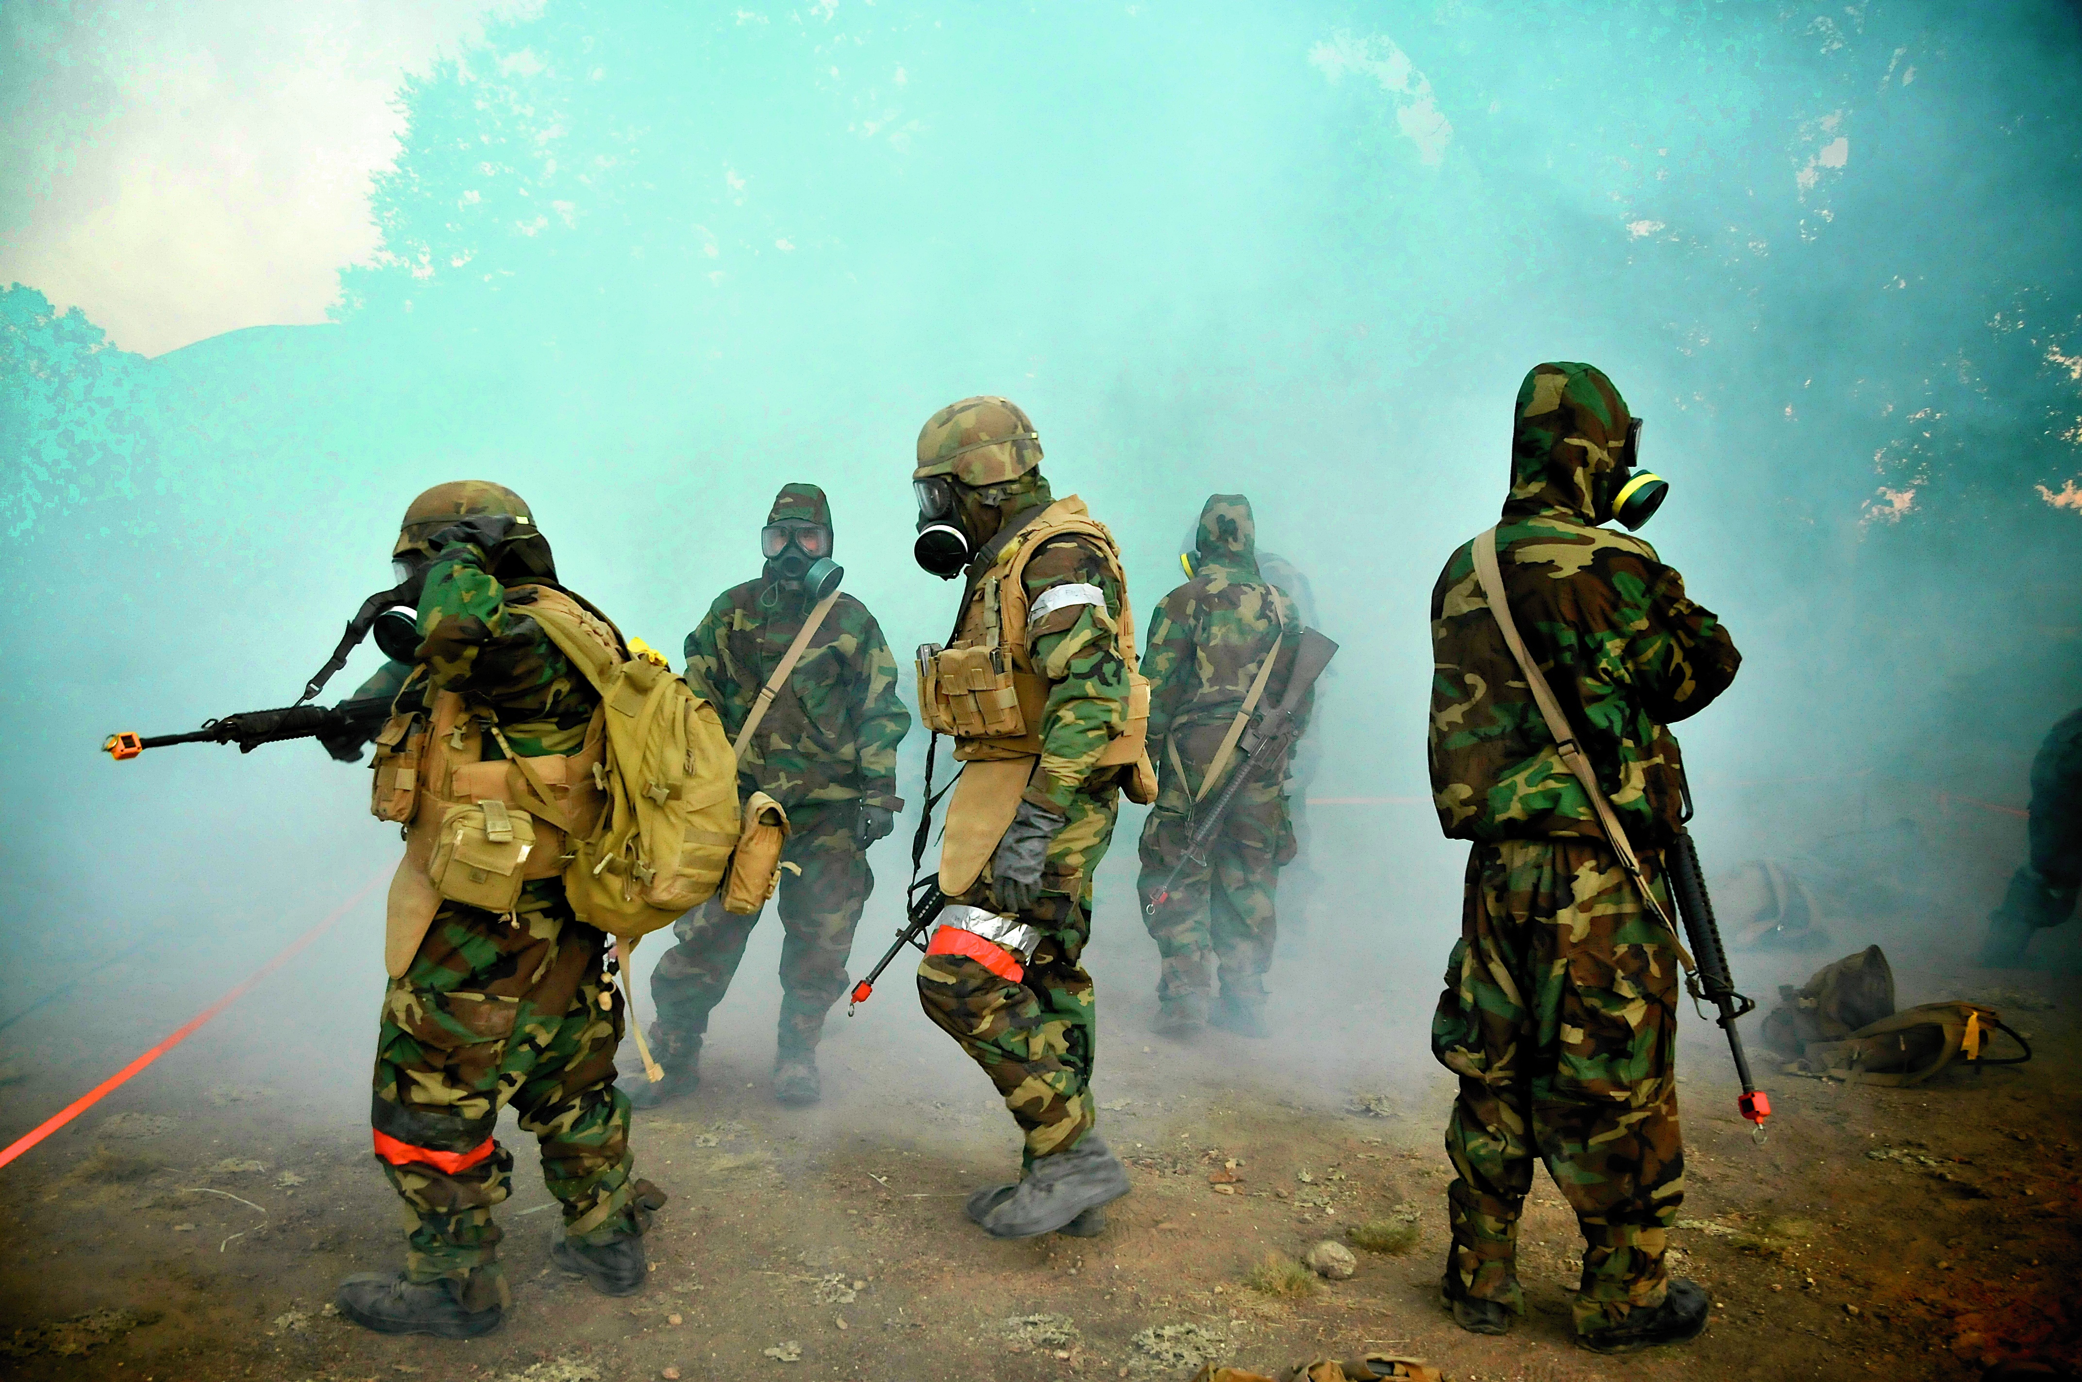
<svg viewBox="0 0 2082 1382"><path fill-rule="evenodd" d="M620 656L614 631L577 599L545 585L525 589L533 591L535 608L560 614ZM406 683L406 691L410 689L412 683ZM431 712L393 714L377 735L369 810L379 820L404 824L404 858L391 876L383 935L383 968L391 978L412 964L441 907L441 891L433 878L437 853L443 868L483 874L483 882L493 887L564 872L564 830L525 810L535 799L535 789L512 756L485 760L487 733L498 733L489 708L466 708L456 691L439 691ZM558 814L585 835L600 822L604 797L598 770L604 758L606 733L600 716L593 716L577 753L537 753L527 760L550 789ZM516 808L518 814L504 822L485 818L485 801ZM496 839L498 835L510 839ZM527 839L520 841L518 835Z"/></svg>

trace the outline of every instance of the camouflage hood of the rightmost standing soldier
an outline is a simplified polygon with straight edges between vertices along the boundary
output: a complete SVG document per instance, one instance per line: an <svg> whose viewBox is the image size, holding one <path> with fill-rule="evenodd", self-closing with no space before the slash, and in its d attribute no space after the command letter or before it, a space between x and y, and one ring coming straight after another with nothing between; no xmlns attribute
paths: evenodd
<svg viewBox="0 0 2082 1382"><path fill-rule="evenodd" d="M1512 497L1505 518L1611 518L1632 414L1605 373L1570 360L1534 364L1512 414Z"/></svg>

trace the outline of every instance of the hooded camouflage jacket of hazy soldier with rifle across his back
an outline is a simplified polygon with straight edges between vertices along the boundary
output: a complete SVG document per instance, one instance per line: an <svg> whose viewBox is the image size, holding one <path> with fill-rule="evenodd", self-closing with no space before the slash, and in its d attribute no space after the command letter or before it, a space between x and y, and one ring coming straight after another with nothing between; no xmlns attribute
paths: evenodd
<svg viewBox="0 0 2082 1382"><path fill-rule="evenodd" d="M1247 497L1212 495L1199 512L1195 549L1193 579L1158 606L1143 651L1149 756L1160 766L1168 762L1162 747L1166 735L1201 722L1228 724L1243 708L1266 651L1285 631L1280 664L1274 664L1260 695L1262 706L1276 703L1301 633L1295 602L1258 572L1258 527Z"/></svg>

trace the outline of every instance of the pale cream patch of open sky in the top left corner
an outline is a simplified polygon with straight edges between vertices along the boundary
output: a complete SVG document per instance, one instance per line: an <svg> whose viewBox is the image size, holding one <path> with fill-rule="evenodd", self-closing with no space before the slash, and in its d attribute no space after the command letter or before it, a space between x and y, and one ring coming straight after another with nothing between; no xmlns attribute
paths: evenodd
<svg viewBox="0 0 2082 1382"><path fill-rule="evenodd" d="M156 356L319 323L377 248L369 179L406 73L516 0L0 8L0 281Z"/></svg>

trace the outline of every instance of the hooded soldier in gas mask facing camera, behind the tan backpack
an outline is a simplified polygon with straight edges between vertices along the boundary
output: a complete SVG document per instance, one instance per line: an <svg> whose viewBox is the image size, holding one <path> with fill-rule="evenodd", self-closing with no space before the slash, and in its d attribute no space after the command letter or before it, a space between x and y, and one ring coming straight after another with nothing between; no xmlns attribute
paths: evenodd
<svg viewBox="0 0 2082 1382"><path fill-rule="evenodd" d="M687 685L708 699L735 739L760 687L816 604L806 585L831 558L831 506L816 485L783 485L764 529L766 570L716 595L687 635ZM841 593L824 614L737 764L739 791L768 793L787 808L781 876L781 1034L775 1097L816 1103L816 1043L824 1014L845 993L854 928L874 889L866 849L889 835L904 801L895 793L897 745L910 712L895 691L897 664L868 608ZM716 897L679 920L679 945L652 972L658 1020L652 1051L660 1084L637 1084L637 1107L700 1084L708 1014L722 1001L760 914L735 916Z"/></svg>

